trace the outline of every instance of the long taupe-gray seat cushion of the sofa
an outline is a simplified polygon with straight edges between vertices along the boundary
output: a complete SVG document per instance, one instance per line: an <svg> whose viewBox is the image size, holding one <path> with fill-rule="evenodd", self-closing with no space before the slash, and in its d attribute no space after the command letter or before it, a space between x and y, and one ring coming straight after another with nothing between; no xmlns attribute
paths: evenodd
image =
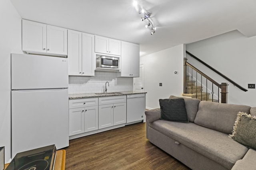
<svg viewBox="0 0 256 170"><path fill-rule="evenodd" d="M228 169L242 159L248 150L227 134L194 123L156 120L149 126Z"/></svg>

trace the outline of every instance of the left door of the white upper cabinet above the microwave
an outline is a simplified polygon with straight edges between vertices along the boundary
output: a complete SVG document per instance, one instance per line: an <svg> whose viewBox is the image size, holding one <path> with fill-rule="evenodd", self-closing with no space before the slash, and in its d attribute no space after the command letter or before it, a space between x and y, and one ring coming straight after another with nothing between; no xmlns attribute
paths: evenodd
<svg viewBox="0 0 256 170"><path fill-rule="evenodd" d="M108 54L108 38L95 35L95 53Z"/></svg>

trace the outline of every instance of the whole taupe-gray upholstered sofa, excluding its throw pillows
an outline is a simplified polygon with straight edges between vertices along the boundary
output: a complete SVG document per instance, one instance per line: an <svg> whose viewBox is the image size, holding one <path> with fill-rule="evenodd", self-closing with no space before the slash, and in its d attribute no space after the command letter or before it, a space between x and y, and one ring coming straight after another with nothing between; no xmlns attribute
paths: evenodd
<svg viewBox="0 0 256 170"><path fill-rule="evenodd" d="M256 170L256 151L228 137L237 113L256 115L256 107L192 98L184 102L189 123L161 120L160 108L145 112L151 143L194 170Z"/></svg>

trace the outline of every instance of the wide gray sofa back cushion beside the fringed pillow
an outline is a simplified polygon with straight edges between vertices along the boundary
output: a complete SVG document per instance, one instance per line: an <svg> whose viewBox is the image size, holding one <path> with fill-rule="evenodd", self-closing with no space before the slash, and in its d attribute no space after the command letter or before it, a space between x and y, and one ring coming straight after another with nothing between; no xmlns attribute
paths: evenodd
<svg viewBox="0 0 256 170"><path fill-rule="evenodd" d="M239 111L250 111L250 106L201 101L194 123L226 134L231 134Z"/></svg>

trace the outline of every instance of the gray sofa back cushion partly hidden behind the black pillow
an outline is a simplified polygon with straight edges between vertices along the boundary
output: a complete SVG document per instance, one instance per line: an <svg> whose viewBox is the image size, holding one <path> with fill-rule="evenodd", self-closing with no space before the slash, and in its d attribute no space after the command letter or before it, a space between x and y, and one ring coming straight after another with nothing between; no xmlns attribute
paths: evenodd
<svg viewBox="0 0 256 170"><path fill-rule="evenodd" d="M199 99L193 99L193 98L186 98L186 97L176 97L176 96L170 96L169 99L177 99L177 98L183 98L185 102L185 107L188 115L188 120L190 122L194 122L194 119L196 117L196 112L198 111L198 104L200 102Z"/></svg>

